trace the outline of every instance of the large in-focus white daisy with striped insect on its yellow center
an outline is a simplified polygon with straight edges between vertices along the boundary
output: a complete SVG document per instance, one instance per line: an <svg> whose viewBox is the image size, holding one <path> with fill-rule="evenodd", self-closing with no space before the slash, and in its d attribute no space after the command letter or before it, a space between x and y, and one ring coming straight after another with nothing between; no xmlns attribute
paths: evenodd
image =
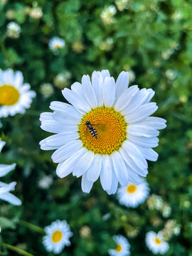
<svg viewBox="0 0 192 256"><path fill-rule="evenodd" d="M53 113L41 114L41 129L55 133L40 142L41 149L56 149L52 159L58 176L82 176L84 192L99 177L109 194L117 191L118 182L138 185L148 173L146 159L158 157L151 148L158 145L158 129L166 127L166 120L149 117L157 110L156 103L149 103L153 90L127 88L128 83L128 72L115 82L108 70L94 71L92 82L83 75L81 84L62 91L72 105L51 102Z"/></svg>

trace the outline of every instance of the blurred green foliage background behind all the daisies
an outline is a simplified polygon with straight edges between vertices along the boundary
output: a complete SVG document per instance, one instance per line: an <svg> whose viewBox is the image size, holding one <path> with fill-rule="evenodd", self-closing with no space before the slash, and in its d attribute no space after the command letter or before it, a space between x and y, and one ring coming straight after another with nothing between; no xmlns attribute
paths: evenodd
<svg viewBox="0 0 192 256"><path fill-rule="evenodd" d="M127 236L131 228L139 230L136 238L128 238L132 255L152 255L144 243L145 234L164 228L167 218L157 210L149 210L146 203L134 210L120 206L115 195L108 196L102 191L100 181L90 194L82 193L80 179L56 176L56 166L50 159L52 152L41 151L38 144L48 136L40 129L40 113L49 111L51 101L63 101L57 87L51 97L43 97L43 82L53 83L55 76L66 70L72 75L72 84L84 74L91 75L93 70L109 69L117 78L122 70L132 69L136 75L134 83L156 91L156 115L167 119L167 128L161 132L156 148L159 159L149 161L147 176L151 193L170 204L170 218L181 225L181 234L170 240L166 255L192 255L192 2L130 0L128 9L117 9L111 24L100 18L105 6L115 6L111 0L36 3L43 10L41 18L26 14L26 9L33 5L30 0L0 4L0 68L21 70L24 80L37 92L26 114L1 119L1 138L6 146L0 161L17 164L4 181L17 181L15 194L23 202L22 206L14 207L1 201L1 239L33 255L53 255L44 249L41 233L26 228L19 220L44 228L56 219L65 219L73 238L72 245L60 255L107 255L107 250L114 247L112 235ZM11 19L7 17L10 10ZM6 36L10 21L20 24L20 38ZM65 48L58 55L48 48L53 36L65 39ZM102 50L100 45L107 38L113 39L112 48ZM84 50L76 53L74 43L82 43ZM170 70L174 77L167 75ZM48 174L53 175L53 184L43 190L37 183ZM110 218L103 220L106 213L110 213ZM161 219L155 227L154 217ZM87 237L80 235L82 226L90 227ZM11 251L5 253L16 255Z"/></svg>

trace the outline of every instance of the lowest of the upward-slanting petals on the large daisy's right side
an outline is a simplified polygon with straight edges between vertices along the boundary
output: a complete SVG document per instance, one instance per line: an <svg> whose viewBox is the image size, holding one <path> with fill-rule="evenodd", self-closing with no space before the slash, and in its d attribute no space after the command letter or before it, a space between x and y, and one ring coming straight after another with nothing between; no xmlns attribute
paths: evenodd
<svg viewBox="0 0 192 256"><path fill-rule="evenodd" d="M132 112L131 114L127 114L125 116L125 119L128 123L139 122L145 119L146 117L149 117L149 115L154 114L154 112L156 112L157 109L158 107L156 106L156 103L147 103L145 105L138 107L138 109Z"/></svg>

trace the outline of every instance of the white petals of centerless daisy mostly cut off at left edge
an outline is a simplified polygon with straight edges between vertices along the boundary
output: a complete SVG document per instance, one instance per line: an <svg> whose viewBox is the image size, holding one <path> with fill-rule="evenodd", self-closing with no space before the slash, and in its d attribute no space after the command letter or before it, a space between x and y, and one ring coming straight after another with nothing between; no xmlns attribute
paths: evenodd
<svg viewBox="0 0 192 256"><path fill-rule="evenodd" d="M5 142L0 141L0 152L5 145ZM0 177L5 176L6 174L9 173L9 171L14 170L16 167L16 164L0 164ZM16 182L11 182L9 184L6 184L4 182L0 181L0 199L7 201L9 203L12 203L14 206L20 206L21 205L21 200L18 199L16 196L12 195L9 193L10 191L14 191L16 186Z"/></svg>

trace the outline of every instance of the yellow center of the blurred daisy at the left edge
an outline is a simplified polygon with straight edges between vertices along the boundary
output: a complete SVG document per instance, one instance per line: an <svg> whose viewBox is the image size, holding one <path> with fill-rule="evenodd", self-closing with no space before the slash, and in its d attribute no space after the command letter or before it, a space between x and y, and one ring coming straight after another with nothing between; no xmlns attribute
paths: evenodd
<svg viewBox="0 0 192 256"><path fill-rule="evenodd" d="M0 86L0 105L11 106L18 102L20 94L12 85Z"/></svg>

